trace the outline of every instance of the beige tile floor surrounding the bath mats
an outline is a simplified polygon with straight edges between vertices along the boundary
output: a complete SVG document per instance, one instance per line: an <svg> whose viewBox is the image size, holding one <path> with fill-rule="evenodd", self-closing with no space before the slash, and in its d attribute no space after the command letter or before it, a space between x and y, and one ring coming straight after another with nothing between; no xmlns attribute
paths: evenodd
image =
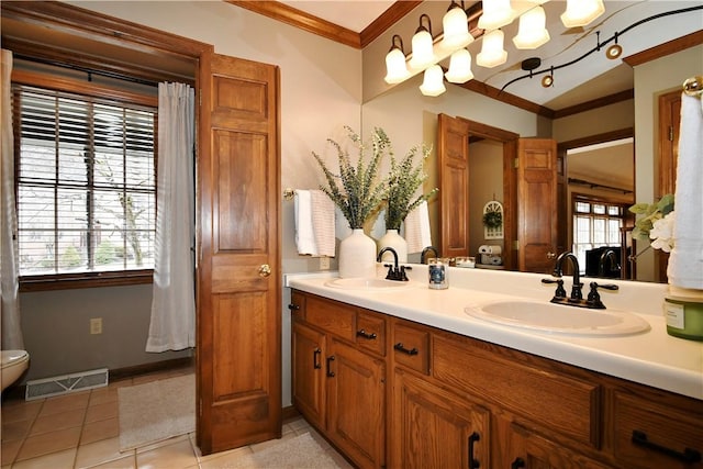
<svg viewBox="0 0 703 469"><path fill-rule="evenodd" d="M278 440L201 456L196 434L120 453L118 388L192 372L189 369L144 375L105 388L25 402L2 402L2 469L168 468L214 469L232 465L243 451L257 451ZM302 418L283 424L283 439L310 433L343 468L348 462Z"/></svg>

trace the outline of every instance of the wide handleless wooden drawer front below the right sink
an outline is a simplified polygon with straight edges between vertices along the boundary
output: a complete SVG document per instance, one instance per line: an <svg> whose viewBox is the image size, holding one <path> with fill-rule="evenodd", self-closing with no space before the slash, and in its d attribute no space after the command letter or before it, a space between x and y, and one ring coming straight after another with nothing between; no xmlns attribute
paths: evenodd
<svg viewBox="0 0 703 469"><path fill-rule="evenodd" d="M528 356L435 335L432 372L440 381L482 395L515 414L592 447L600 447L600 386L531 366Z"/></svg>

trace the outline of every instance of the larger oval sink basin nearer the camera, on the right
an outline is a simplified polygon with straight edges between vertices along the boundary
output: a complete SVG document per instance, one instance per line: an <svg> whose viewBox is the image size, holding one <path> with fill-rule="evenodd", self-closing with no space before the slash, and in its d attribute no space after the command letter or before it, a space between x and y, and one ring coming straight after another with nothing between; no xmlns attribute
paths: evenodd
<svg viewBox="0 0 703 469"><path fill-rule="evenodd" d="M639 334L649 323L636 314L618 310L589 310L545 301L500 301L467 306L466 313L483 321L558 334L617 336Z"/></svg>

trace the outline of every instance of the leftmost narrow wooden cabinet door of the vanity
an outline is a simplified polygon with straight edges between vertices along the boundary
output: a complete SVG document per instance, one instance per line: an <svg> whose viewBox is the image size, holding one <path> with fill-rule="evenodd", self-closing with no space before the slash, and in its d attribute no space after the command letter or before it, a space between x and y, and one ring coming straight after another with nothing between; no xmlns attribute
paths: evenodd
<svg viewBox="0 0 703 469"><path fill-rule="evenodd" d="M325 337L293 321L291 345L293 404L317 428L325 424Z"/></svg>

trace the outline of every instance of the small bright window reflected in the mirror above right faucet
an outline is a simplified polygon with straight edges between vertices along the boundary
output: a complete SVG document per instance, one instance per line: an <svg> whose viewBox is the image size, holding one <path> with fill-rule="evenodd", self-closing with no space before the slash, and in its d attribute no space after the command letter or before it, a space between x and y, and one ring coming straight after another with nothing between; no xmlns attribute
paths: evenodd
<svg viewBox="0 0 703 469"><path fill-rule="evenodd" d="M617 203L578 199L573 203L573 254L581 270L585 252L601 246L620 246L625 208Z"/></svg>

